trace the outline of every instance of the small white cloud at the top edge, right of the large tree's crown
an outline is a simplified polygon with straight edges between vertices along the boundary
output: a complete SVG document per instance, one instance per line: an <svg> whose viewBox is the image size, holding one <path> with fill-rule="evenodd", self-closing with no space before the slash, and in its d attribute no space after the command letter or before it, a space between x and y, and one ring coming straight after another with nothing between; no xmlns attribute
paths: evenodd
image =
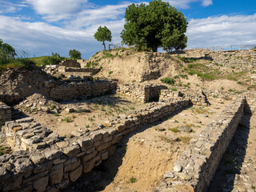
<svg viewBox="0 0 256 192"><path fill-rule="evenodd" d="M202 2L202 6L213 5L212 0L167 0L165 2L170 2L171 6L175 6L177 8L182 8L182 9L190 8L191 2Z"/></svg>

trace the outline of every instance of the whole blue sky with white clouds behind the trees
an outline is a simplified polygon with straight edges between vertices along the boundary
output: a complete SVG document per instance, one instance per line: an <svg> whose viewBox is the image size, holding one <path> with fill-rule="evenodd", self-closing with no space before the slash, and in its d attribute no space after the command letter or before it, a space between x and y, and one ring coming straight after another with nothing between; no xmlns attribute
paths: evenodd
<svg viewBox="0 0 256 192"><path fill-rule="evenodd" d="M0 0L0 38L29 57L102 50L98 26L120 43L126 7L144 0ZM189 22L187 48L256 45L256 0L168 0Z"/></svg>

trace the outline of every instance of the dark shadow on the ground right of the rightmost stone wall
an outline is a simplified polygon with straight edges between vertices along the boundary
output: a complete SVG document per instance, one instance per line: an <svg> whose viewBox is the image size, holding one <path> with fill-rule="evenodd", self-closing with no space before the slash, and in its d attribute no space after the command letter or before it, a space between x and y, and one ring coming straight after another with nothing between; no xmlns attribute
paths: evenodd
<svg viewBox="0 0 256 192"><path fill-rule="evenodd" d="M246 157L251 116L251 113L242 116L234 137L223 154L214 178L210 182L208 192L227 192L234 189L235 175L241 174L242 163Z"/></svg>

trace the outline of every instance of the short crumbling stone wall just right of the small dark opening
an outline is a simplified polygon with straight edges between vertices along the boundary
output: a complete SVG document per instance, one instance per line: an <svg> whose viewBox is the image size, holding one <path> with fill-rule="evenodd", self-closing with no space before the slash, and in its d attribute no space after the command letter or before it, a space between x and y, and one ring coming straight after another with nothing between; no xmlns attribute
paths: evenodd
<svg viewBox="0 0 256 192"><path fill-rule="evenodd" d="M180 88L179 90L161 90L159 101L164 101L167 99L177 99L179 97L184 97L190 99L193 105L196 106L207 106L206 95L202 90L191 90L187 88Z"/></svg>

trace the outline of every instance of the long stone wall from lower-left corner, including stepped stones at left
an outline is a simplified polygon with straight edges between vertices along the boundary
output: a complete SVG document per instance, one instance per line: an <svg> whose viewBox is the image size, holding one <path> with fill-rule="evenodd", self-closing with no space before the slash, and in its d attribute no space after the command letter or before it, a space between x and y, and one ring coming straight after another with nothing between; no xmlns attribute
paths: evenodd
<svg viewBox="0 0 256 192"><path fill-rule="evenodd" d="M15 135L22 135L22 138L26 135L26 142L22 142L26 145L32 143L32 147L27 148L29 151L18 150L0 156L0 190L61 190L70 182L76 181L82 172L90 172L94 166L98 166L102 160L113 154L116 144L123 135L142 125L168 117L171 112L189 104L189 100L153 102L145 109L134 110L123 117L111 119L100 126L101 129L93 132L74 131L73 138L65 138L55 144L45 142L45 146L42 145L44 147L39 147L37 150L33 147L33 142L41 143L45 138L40 134L45 131L47 135L50 132L43 130L40 125L36 125L36 122L31 122L31 119L8 122L4 130L12 131L13 135L16 132ZM36 127L38 130L35 129Z"/></svg>

